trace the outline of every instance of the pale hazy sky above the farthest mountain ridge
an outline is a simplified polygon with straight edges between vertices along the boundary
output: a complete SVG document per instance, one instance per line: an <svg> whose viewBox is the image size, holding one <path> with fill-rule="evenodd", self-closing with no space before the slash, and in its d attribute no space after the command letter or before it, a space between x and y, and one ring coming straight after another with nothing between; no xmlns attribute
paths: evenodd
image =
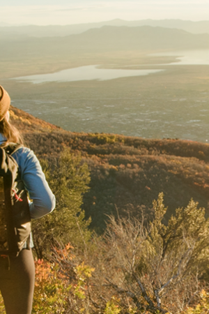
<svg viewBox="0 0 209 314"><path fill-rule="evenodd" d="M209 20L209 0L0 0L0 24L123 20Z"/></svg>

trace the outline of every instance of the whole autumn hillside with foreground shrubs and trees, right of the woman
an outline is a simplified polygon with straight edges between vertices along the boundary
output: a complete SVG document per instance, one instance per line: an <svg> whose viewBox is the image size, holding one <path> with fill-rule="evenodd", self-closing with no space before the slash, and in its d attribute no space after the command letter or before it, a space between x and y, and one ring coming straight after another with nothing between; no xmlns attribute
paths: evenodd
<svg viewBox="0 0 209 314"><path fill-rule="evenodd" d="M32 313L208 313L208 144L10 116L56 195L55 211L32 221Z"/></svg>

